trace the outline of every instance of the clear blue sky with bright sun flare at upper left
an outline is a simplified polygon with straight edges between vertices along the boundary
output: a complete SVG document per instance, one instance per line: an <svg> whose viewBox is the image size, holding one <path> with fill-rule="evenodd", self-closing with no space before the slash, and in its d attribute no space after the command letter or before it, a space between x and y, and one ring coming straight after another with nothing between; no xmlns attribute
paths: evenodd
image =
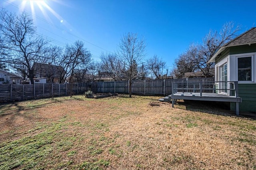
<svg viewBox="0 0 256 170"><path fill-rule="evenodd" d="M201 43L209 30L226 22L241 31L256 27L256 0L0 0L9 12L24 10L37 32L65 46L82 40L95 61L114 52L122 35L133 32L146 40L145 59L158 55L169 70L191 43ZM34 6L34 12L31 10ZM47 5L45 5L47 4Z"/></svg>

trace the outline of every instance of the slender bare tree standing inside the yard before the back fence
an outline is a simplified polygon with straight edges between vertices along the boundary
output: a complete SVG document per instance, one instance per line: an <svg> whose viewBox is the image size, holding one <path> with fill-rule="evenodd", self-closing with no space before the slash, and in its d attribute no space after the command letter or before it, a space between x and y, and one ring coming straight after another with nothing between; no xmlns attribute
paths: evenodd
<svg viewBox="0 0 256 170"><path fill-rule="evenodd" d="M123 61L126 77L129 79L129 97L132 97L132 80L140 76L138 64L145 55L145 40L137 34L128 33L122 36L118 45L118 55Z"/></svg>

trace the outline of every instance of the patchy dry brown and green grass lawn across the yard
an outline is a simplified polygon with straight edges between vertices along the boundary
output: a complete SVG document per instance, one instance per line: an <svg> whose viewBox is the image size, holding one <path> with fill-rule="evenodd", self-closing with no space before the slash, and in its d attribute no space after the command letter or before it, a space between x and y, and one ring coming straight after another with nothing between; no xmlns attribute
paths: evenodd
<svg viewBox="0 0 256 170"><path fill-rule="evenodd" d="M0 169L256 170L255 120L159 98L1 104Z"/></svg>

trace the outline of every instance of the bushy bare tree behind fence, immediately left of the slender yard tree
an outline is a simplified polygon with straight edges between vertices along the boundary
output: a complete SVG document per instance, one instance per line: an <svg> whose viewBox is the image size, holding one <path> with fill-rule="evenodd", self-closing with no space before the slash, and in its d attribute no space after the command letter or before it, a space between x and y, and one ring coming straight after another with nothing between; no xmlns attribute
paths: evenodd
<svg viewBox="0 0 256 170"><path fill-rule="evenodd" d="M116 53L102 53L100 59L103 73L112 77L114 81L124 78L124 65Z"/></svg>

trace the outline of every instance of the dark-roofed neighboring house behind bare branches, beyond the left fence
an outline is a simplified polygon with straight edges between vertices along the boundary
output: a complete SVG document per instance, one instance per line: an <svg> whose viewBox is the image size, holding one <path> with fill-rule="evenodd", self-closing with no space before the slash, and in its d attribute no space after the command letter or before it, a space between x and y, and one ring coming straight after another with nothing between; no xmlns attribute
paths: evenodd
<svg viewBox="0 0 256 170"><path fill-rule="evenodd" d="M52 65L51 63L34 63L32 67L35 78L45 78L47 83L59 83L60 77L65 75L63 67Z"/></svg>

